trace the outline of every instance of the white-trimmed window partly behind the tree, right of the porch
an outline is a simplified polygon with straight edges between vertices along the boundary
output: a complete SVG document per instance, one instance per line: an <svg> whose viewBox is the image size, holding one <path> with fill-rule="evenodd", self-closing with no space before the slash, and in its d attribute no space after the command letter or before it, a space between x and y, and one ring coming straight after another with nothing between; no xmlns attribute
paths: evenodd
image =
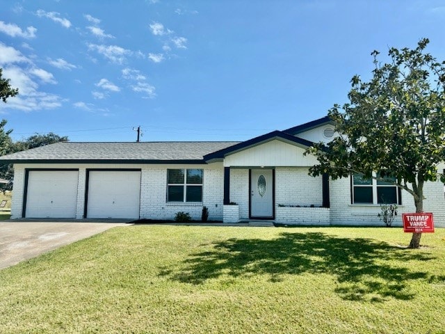
<svg viewBox="0 0 445 334"><path fill-rule="evenodd" d="M370 205L401 204L401 191L394 186L395 180L394 177L385 177L385 180L365 179L362 174L353 174L351 202Z"/></svg>

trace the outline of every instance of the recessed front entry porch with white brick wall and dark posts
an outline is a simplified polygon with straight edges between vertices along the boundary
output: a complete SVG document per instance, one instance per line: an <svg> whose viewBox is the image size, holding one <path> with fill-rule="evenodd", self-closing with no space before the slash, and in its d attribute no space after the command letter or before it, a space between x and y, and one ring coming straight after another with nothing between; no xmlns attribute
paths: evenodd
<svg viewBox="0 0 445 334"><path fill-rule="evenodd" d="M329 179L307 167L225 167L225 223L329 225Z"/></svg>

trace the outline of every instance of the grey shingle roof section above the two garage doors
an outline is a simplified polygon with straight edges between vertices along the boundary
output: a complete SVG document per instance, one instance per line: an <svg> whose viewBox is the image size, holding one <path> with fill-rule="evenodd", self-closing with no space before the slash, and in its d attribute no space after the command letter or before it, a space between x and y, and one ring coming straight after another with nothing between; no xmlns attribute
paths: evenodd
<svg viewBox="0 0 445 334"><path fill-rule="evenodd" d="M63 142L0 157L0 164L21 162L204 162L203 157L238 142L143 142L73 143Z"/></svg>

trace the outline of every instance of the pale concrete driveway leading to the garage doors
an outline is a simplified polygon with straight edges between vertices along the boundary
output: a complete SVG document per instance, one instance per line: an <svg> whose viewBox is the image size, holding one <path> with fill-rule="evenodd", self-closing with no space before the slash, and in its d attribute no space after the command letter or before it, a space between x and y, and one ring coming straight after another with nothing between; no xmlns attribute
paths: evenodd
<svg viewBox="0 0 445 334"><path fill-rule="evenodd" d="M0 269L71 244L124 222L0 221Z"/></svg>

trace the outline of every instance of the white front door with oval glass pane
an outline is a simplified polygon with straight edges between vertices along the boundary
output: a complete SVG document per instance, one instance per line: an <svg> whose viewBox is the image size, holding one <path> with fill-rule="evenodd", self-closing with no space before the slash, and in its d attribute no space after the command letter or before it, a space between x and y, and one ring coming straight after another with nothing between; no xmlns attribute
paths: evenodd
<svg viewBox="0 0 445 334"><path fill-rule="evenodd" d="M251 170L250 216L273 219L273 170L271 169Z"/></svg>

